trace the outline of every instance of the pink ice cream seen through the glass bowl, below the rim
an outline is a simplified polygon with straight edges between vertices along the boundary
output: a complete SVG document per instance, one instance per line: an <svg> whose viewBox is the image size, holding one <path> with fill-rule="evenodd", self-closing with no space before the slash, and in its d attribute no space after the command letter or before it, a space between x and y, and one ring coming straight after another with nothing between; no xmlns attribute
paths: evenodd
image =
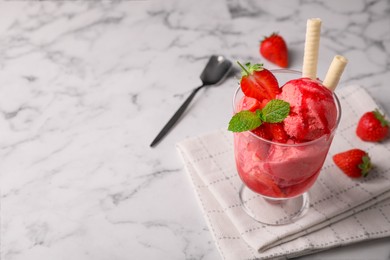
<svg viewBox="0 0 390 260"><path fill-rule="evenodd" d="M313 185L330 143L331 138L320 138L308 145L279 145L251 132L235 133L237 170L246 186L255 192L268 197L294 197Z"/></svg>

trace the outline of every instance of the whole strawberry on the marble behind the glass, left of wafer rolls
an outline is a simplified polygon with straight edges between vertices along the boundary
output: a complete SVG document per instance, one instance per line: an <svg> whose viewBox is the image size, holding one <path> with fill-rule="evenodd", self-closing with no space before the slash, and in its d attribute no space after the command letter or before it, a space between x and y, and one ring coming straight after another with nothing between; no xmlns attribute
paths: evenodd
<svg viewBox="0 0 390 260"><path fill-rule="evenodd" d="M287 44L282 36L277 33L265 37L260 42L260 54L270 62L275 63L282 68L288 67Z"/></svg>

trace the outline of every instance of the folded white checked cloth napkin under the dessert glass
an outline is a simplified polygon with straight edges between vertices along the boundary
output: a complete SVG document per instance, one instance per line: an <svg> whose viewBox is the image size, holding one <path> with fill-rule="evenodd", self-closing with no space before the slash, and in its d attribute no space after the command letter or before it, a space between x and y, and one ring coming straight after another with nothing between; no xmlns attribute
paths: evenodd
<svg viewBox="0 0 390 260"><path fill-rule="evenodd" d="M292 224L263 225L242 209L238 196L242 182L227 130L177 144L224 259L298 256L390 235L390 142L363 142L355 134L360 116L378 105L356 85L340 88L337 95L342 107L340 126L310 189L310 209ZM368 177L351 179L332 162L333 154L352 148L371 156L375 168Z"/></svg>

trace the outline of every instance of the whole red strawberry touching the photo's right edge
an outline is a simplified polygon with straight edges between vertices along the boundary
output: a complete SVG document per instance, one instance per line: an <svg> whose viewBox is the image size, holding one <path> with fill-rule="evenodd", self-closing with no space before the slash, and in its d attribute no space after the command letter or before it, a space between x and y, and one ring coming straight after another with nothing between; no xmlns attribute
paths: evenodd
<svg viewBox="0 0 390 260"><path fill-rule="evenodd" d="M379 142L387 137L389 121L378 109L365 113L359 120L356 135L363 141Z"/></svg>

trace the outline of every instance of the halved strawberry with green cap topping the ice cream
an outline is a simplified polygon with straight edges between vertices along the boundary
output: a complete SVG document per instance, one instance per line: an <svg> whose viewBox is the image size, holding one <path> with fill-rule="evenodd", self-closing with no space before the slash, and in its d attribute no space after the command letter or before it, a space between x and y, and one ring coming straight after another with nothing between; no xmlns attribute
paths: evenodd
<svg viewBox="0 0 390 260"><path fill-rule="evenodd" d="M238 64L243 70L240 85L245 96L262 102L264 99L274 99L280 93L277 79L272 72L264 69L262 64L247 63L245 67L239 62Z"/></svg>

